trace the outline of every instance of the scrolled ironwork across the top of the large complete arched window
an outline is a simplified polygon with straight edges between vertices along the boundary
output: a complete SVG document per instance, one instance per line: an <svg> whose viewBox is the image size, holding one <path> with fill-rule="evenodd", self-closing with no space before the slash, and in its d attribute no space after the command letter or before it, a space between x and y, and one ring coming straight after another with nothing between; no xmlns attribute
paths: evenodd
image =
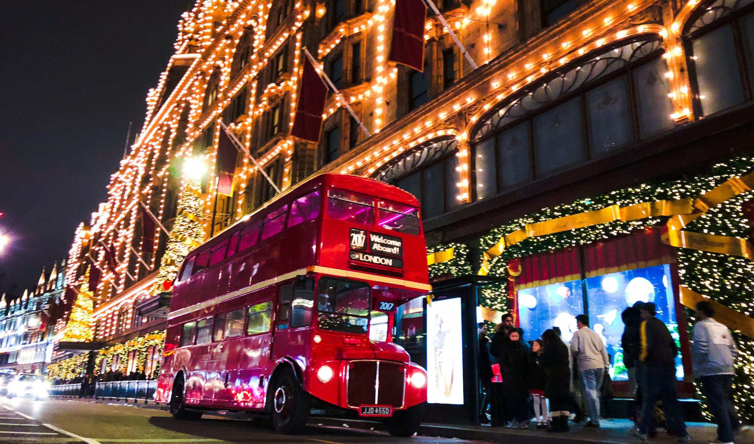
<svg viewBox="0 0 754 444"><path fill-rule="evenodd" d="M661 47L661 42L657 40L633 41L605 51L578 66L572 66L568 71L550 81L532 85L529 87L529 93L525 93L512 102L498 105L492 115L483 120L477 130L472 133L472 140L476 142L490 131L498 130L547 103L559 100L566 93L577 90L597 78L615 72L642 57L654 54Z"/></svg>

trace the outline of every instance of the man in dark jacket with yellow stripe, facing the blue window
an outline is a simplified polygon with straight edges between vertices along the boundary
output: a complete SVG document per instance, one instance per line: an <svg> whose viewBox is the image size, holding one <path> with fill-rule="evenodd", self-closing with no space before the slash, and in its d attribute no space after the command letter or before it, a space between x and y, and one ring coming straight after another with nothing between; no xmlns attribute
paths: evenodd
<svg viewBox="0 0 754 444"><path fill-rule="evenodd" d="M639 385L642 387L642 415L639 428L628 431L630 436L647 440L657 433L654 421L654 403L662 401L667 432L678 436L678 442L689 442L683 412L676 390L676 355L678 346L670 330L654 317L656 306L647 302L639 309L642 324L639 329Z"/></svg>

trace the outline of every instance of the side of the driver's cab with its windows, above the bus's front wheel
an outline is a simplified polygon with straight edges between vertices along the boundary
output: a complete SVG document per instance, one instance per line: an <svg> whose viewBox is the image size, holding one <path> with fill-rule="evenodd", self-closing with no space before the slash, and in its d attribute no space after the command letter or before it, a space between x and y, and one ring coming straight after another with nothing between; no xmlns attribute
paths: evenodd
<svg viewBox="0 0 754 444"><path fill-rule="evenodd" d="M314 312L314 277L299 276L278 288L277 314L273 326L271 360L293 357L305 367L311 348L311 319Z"/></svg>

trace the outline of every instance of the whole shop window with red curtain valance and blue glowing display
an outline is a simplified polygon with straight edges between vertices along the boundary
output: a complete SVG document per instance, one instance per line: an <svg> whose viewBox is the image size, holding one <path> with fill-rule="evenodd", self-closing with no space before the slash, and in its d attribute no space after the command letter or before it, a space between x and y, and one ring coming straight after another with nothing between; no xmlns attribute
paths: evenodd
<svg viewBox="0 0 754 444"><path fill-rule="evenodd" d="M569 341L576 331L575 315L586 313L590 328L600 337L611 356L610 376L614 381L628 378L623 361L621 336L625 324L621 314L636 302L654 302L657 318L670 329L679 348L682 335L688 343L685 326L676 319L673 290L673 262L670 246L661 241L661 230L650 228L580 247L541 253L510 261L520 264L521 274L513 277L514 311L527 339L545 329L559 326ZM682 316L682 314L681 314ZM688 352L688 346L682 348ZM688 353L686 353L688 354ZM676 377L682 380L685 368L676 357Z"/></svg>

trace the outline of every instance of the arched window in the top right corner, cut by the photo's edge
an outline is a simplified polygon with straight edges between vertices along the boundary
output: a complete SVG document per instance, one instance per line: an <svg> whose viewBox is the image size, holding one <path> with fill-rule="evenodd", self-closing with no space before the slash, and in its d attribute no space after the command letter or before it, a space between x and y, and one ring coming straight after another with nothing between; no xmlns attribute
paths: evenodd
<svg viewBox="0 0 754 444"><path fill-rule="evenodd" d="M754 1L716 0L700 7L684 39L697 114L752 100Z"/></svg>

